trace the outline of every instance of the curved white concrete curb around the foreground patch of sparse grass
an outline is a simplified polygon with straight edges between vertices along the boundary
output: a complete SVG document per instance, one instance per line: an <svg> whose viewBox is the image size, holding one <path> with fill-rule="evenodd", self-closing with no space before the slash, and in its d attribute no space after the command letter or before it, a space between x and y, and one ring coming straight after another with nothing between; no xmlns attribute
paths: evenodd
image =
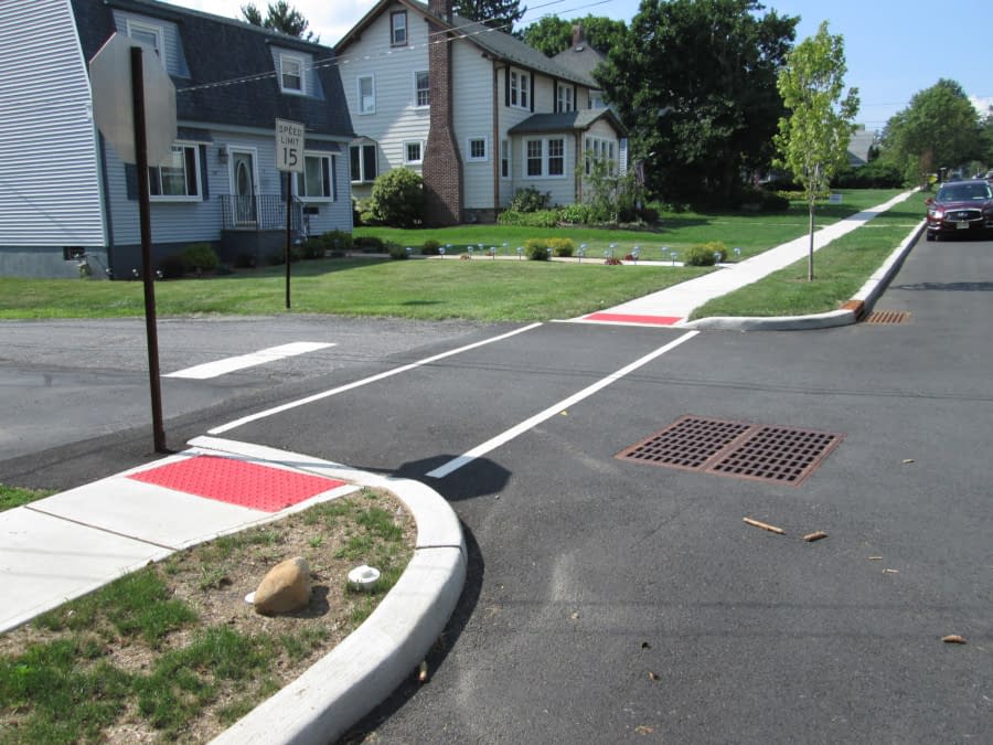
<svg viewBox="0 0 993 745"><path fill-rule="evenodd" d="M414 556L373 614L297 680L211 741L334 742L417 668L448 622L466 583L467 552L458 518L438 492L419 481L216 437L197 437L189 445L388 489L417 522Z"/></svg>

